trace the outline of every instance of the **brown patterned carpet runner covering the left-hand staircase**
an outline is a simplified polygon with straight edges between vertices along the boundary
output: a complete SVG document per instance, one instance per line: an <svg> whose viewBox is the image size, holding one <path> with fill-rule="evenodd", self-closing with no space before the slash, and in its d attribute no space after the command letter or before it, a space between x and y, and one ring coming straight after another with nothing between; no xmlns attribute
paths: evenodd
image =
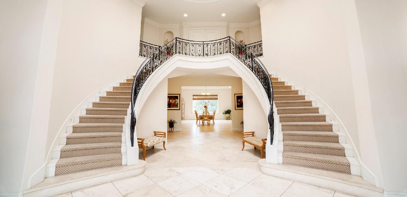
<svg viewBox="0 0 407 197"><path fill-rule="evenodd" d="M122 165L122 135L133 79L119 83L86 108L66 136L55 175Z"/></svg>

